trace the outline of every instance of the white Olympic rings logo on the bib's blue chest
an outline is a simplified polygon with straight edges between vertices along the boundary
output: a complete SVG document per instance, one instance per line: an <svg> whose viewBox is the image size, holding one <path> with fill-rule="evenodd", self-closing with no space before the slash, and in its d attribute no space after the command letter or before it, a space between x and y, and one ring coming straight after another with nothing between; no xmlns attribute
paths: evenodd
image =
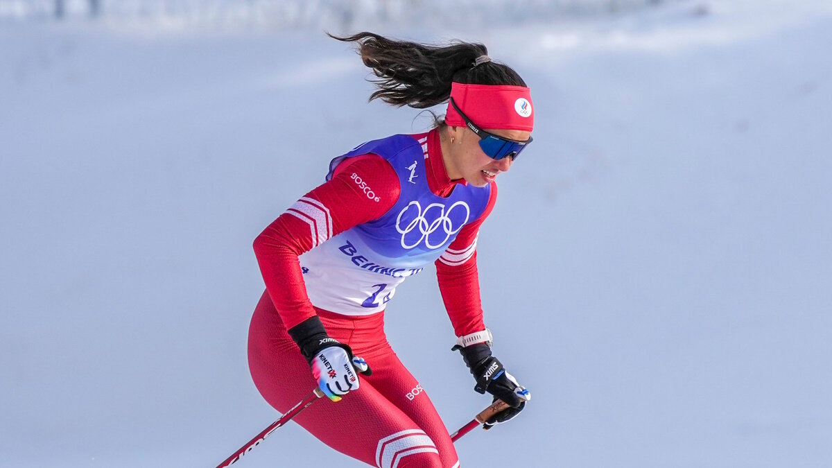
<svg viewBox="0 0 832 468"><path fill-rule="evenodd" d="M462 219L463 209L465 210L464 219ZM403 217L410 221L406 221L403 225ZM422 211L422 206L414 200L399 212L399 217L396 218L396 231L402 235L402 246L405 249L410 250L422 241L429 249L438 249L465 226L469 217L471 217L471 208L465 202L456 202L445 212L445 206L442 203L431 203ZM433 221L428 221L431 218ZM434 233L436 233L435 236ZM437 242L439 239L441 241Z"/></svg>

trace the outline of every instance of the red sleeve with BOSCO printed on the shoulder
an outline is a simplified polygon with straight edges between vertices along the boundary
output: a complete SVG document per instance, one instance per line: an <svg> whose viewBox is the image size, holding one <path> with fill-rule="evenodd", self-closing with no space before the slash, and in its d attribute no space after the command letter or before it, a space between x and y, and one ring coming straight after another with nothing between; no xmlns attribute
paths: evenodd
<svg viewBox="0 0 832 468"><path fill-rule="evenodd" d="M372 187L375 197L368 197L365 187ZM352 157L257 236L255 256L263 281L287 329L315 315L298 256L350 227L378 219L396 204L400 190L399 176L384 158Z"/></svg>

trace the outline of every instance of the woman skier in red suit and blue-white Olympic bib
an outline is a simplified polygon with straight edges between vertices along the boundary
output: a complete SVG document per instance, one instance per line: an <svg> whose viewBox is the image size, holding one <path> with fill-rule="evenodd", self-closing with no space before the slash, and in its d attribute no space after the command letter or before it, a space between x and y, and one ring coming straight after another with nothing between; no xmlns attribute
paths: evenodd
<svg viewBox="0 0 832 468"><path fill-rule="evenodd" d="M326 182L257 236L266 291L251 319L251 376L281 412L315 386L338 401L310 406L294 421L355 459L379 468L457 467L433 403L384 336L384 308L396 286L435 261L454 349L474 390L511 406L486 424L517 416L531 398L491 355L476 254L497 199L494 179L532 142L531 95L482 44L431 46L370 32L334 38L356 42L379 77L370 99L417 108L448 102L448 109L427 133L335 157Z"/></svg>

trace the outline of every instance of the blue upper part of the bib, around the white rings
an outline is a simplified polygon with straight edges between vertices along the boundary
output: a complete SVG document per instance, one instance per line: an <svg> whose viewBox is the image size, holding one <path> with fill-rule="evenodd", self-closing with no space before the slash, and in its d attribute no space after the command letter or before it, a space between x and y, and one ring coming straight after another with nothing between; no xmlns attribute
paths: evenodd
<svg viewBox="0 0 832 468"><path fill-rule="evenodd" d="M422 145L410 135L366 142L336 157L327 180L347 157L367 153L384 157L399 176L401 194L384 216L344 232L390 266L412 268L436 260L466 224L477 220L488 205L491 187L457 184L448 197L438 197L428 187Z"/></svg>

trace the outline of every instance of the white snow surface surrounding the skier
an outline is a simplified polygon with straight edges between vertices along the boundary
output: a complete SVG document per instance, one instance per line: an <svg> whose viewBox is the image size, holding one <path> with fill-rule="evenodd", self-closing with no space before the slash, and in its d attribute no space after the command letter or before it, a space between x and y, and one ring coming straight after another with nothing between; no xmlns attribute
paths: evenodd
<svg viewBox="0 0 832 468"><path fill-rule="evenodd" d="M379 32L483 41L537 109L478 249L533 401L463 467L832 466L830 2ZM251 242L428 126L364 77L318 30L0 25L0 466L215 466L275 421ZM387 329L454 431L488 398L434 278ZM290 425L240 466L324 464L362 466Z"/></svg>

